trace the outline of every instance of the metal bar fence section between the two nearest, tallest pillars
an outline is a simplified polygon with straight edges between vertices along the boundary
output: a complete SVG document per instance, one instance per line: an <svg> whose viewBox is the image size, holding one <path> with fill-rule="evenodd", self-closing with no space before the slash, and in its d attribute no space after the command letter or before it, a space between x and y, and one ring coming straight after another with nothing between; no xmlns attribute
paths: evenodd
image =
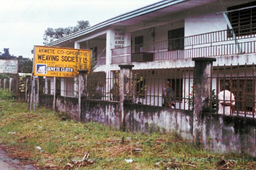
<svg viewBox="0 0 256 170"><path fill-rule="evenodd" d="M193 67L132 70L129 81L130 103L193 109Z"/></svg>

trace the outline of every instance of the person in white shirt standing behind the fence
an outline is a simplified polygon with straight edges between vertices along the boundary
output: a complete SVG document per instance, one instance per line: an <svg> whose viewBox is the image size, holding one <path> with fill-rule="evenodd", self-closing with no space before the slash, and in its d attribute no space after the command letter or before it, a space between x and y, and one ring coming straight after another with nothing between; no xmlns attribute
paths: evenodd
<svg viewBox="0 0 256 170"><path fill-rule="evenodd" d="M233 115L234 95L229 90L229 83L224 83L222 91L218 93L218 114Z"/></svg>

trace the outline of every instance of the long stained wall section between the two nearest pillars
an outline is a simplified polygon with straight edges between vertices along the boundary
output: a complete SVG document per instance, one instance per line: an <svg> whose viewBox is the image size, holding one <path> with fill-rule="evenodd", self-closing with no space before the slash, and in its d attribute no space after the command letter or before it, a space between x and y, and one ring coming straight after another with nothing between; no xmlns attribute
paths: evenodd
<svg viewBox="0 0 256 170"><path fill-rule="evenodd" d="M124 112L126 131L170 132L178 133L182 139L193 139L192 111L125 103Z"/></svg>

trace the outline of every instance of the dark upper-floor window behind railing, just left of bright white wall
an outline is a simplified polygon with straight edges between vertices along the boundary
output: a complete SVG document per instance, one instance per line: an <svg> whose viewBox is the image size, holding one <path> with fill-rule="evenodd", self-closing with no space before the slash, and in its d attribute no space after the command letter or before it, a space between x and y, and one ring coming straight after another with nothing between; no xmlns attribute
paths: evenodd
<svg viewBox="0 0 256 170"><path fill-rule="evenodd" d="M184 28L168 31L168 50L184 49Z"/></svg>

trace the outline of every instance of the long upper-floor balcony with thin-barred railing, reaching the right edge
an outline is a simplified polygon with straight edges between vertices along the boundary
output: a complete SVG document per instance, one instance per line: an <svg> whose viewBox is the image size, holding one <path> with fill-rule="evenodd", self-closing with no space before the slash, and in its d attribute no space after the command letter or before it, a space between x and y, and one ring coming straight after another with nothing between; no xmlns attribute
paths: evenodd
<svg viewBox="0 0 256 170"><path fill-rule="evenodd" d="M111 49L112 64L255 53L256 26ZM233 37L232 35L235 34Z"/></svg>

